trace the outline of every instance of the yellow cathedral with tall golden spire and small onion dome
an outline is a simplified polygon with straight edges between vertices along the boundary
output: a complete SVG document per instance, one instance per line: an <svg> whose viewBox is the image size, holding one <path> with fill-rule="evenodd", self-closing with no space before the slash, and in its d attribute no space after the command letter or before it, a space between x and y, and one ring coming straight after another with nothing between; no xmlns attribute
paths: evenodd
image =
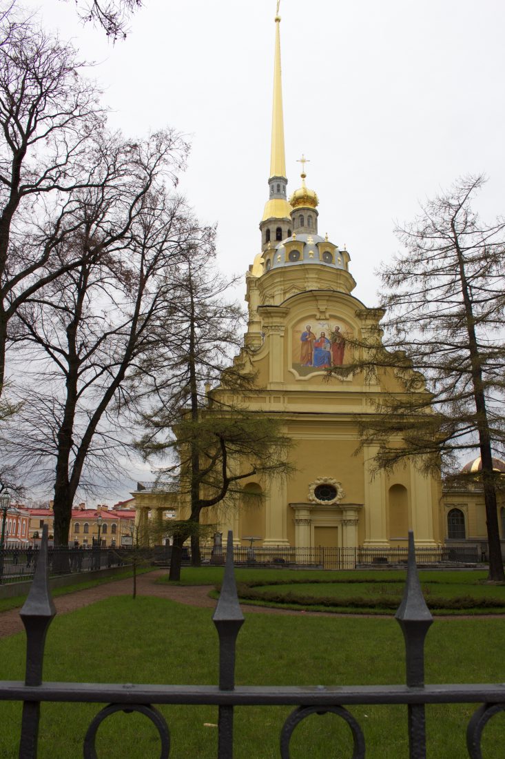
<svg viewBox="0 0 505 759"><path fill-rule="evenodd" d="M261 249L246 274L247 350L235 363L256 376L257 391L243 400L249 411L281 415L293 440L295 474L270 485L248 481L246 490L262 494L261 507L218 515L218 530L232 529L242 545L255 537L256 546L384 549L406 546L412 529L417 546L437 546L444 539L440 480L410 463L394 474L375 473L373 446L355 455L356 414L373 414L374 398L396 389L394 376L327 380L329 367L348 361L350 339L380 340L381 311L353 296L350 254L318 233L318 197L306 185L306 159L301 186L287 193L280 23L277 15L268 198ZM147 509L177 509L174 494L170 504L162 493L135 495L143 496L140 523Z"/></svg>

